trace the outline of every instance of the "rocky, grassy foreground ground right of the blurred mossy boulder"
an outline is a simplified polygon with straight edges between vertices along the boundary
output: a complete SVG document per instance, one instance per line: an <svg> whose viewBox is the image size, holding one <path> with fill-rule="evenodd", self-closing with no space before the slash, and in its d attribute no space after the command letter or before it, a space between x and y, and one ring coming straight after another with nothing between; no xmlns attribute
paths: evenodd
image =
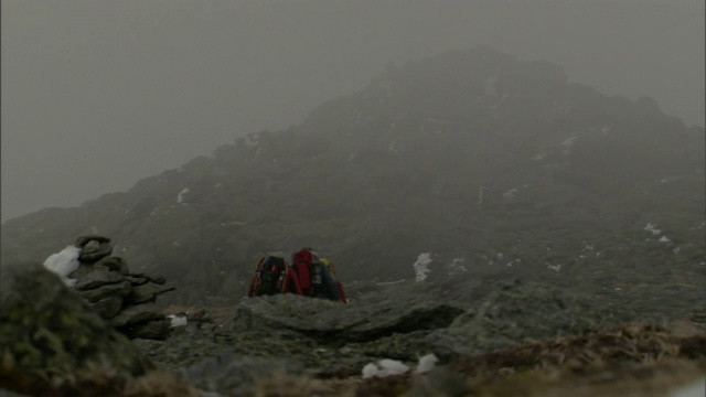
<svg viewBox="0 0 706 397"><path fill-rule="evenodd" d="M186 383L223 396L661 396L706 369L706 324L681 314L698 308L670 311L668 296L646 312L630 293L621 301L503 278L349 290L349 304L275 296L171 307L192 321L165 342L133 343ZM431 353L435 369L418 374ZM362 376L384 360L409 371Z"/></svg>

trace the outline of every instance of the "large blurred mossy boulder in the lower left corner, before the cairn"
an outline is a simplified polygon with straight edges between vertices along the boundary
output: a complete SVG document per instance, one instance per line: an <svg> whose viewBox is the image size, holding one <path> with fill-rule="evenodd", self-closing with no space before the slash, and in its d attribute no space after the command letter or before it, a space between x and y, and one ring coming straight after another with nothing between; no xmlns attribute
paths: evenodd
<svg viewBox="0 0 706 397"><path fill-rule="evenodd" d="M100 368L130 379L153 368L76 291L41 265L3 267L0 278L0 388L30 395Z"/></svg>

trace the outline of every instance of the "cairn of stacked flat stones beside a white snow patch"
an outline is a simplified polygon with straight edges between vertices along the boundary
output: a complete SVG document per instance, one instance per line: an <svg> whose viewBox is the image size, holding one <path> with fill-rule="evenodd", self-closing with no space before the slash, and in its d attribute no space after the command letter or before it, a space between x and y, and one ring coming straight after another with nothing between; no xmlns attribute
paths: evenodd
<svg viewBox="0 0 706 397"><path fill-rule="evenodd" d="M79 266L68 277L94 310L130 339L165 340L171 322L154 301L174 286L163 277L131 272L125 259L111 256L108 237L79 236L74 245L81 248Z"/></svg>

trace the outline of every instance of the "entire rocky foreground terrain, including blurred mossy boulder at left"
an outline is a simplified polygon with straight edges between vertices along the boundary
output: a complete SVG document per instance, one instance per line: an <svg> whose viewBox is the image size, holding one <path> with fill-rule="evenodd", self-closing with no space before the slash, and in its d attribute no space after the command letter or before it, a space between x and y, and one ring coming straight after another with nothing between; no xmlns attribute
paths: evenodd
<svg viewBox="0 0 706 397"><path fill-rule="evenodd" d="M39 266L6 269L4 395L666 396L706 371L697 289L646 307L645 289L500 276L352 282L349 304L170 307L189 320L157 341L128 340Z"/></svg>

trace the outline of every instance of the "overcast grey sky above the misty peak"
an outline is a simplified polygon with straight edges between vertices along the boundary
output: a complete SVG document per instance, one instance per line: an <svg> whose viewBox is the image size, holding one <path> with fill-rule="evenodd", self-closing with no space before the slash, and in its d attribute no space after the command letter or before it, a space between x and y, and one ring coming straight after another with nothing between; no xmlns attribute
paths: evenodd
<svg viewBox="0 0 706 397"><path fill-rule="evenodd" d="M478 44L704 126L704 0L2 0L2 221L300 122Z"/></svg>

